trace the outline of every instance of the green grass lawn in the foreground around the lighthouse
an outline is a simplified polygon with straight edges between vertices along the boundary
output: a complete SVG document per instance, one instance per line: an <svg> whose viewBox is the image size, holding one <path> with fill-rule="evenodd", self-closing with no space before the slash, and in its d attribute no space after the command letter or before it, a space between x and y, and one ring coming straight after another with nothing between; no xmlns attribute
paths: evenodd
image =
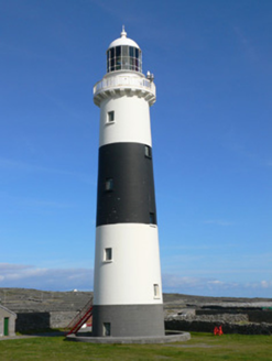
<svg viewBox="0 0 272 361"><path fill-rule="evenodd" d="M94 344L66 341L63 337L34 337L0 341L0 360L272 361L272 337L192 333L189 341L167 344Z"/></svg>

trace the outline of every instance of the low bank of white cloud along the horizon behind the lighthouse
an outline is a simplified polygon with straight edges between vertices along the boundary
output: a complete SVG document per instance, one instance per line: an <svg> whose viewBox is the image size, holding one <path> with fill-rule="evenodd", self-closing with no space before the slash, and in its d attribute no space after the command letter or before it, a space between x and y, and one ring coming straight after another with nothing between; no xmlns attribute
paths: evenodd
<svg viewBox="0 0 272 361"><path fill-rule="evenodd" d="M40 269L24 264L0 263L0 287L44 291L93 289L91 269ZM163 274L163 292L199 296L271 297L272 280L225 282L218 278Z"/></svg>

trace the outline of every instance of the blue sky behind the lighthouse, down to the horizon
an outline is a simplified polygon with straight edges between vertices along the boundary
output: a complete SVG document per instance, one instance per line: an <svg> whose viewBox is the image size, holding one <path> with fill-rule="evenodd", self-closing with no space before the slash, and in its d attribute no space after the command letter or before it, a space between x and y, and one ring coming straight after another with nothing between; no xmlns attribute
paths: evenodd
<svg viewBox="0 0 272 361"><path fill-rule="evenodd" d="M93 288L93 86L124 24L157 88L164 292L271 297L271 13L269 0L0 0L0 287Z"/></svg>

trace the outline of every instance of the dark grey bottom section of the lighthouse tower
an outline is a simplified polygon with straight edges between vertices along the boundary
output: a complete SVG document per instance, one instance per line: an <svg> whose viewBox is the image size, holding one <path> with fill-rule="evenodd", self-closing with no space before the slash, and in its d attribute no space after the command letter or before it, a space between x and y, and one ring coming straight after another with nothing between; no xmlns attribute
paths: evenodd
<svg viewBox="0 0 272 361"><path fill-rule="evenodd" d="M94 305L93 336L163 337L163 305Z"/></svg>

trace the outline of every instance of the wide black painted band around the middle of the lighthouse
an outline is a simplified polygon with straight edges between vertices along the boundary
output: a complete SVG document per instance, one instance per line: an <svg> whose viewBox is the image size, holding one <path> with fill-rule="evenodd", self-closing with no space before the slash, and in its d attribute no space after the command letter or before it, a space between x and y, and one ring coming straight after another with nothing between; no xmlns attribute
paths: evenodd
<svg viewBox="0 0 272 361"><path fill-rule="evenodd" d="M151 147L111 143L99 149L97 227L156 225Z"/></svg>

